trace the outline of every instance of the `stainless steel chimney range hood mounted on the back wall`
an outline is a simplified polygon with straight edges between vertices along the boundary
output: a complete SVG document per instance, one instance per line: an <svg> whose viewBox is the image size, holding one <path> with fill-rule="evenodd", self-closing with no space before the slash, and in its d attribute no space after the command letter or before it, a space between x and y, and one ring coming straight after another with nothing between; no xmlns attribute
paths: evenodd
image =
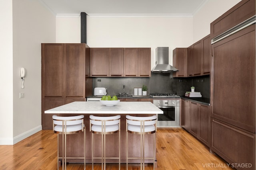
<svg viewBox="0 0 256 170"><path fill-rule="evenodd" d="M156 65L151 70L153 73L170 73L178 71L177 68L169 64L169 47L156 48Z"/></svg>

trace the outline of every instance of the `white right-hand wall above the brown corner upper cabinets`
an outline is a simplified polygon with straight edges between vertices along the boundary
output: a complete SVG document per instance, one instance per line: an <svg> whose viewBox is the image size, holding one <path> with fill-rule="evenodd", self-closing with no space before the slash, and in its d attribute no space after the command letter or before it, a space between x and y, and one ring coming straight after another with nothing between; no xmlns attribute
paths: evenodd
<svg viewBox="0 0 256 170"><path fill-rule="evenodd" d="M208 0L193 16L193 43L210 34L210 23L240 1L241 0Z"/></svg>

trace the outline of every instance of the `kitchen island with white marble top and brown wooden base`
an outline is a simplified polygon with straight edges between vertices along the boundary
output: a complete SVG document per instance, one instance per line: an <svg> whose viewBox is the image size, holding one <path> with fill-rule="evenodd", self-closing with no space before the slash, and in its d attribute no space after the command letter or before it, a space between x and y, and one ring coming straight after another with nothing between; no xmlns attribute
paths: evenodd
<svg viewBox="0 0 256 170"><path fill-rule="evenodd" d="M120 120L120 152L121 163L126 162L126 115L150 116L163 114L163 111L154 106L151 102L119 102L116 106L104 106L100 102L72 102L63 106L55 107L44 111L45 114L59 116L84 115L84 124L86 126L86 162L92 162L92 141L89 131L89 116L112 116L121 115ZM129 155L140 157L140 135L131 135L128 139ZM145 157L153 157L153 135L145 135ZM101 135L94 136L94 156L101 156ZM98 146L98 147L96 147ZM59 143L60 154L62 153L62 143ZM83 133L67 135L67 157L83 156ZM154 149L156 153L156 149ZM62 155L60 155L62 156ZM118 156L118 134L106 135L106 156ZM81 160L67 160L67 162L80 162ZM100 162L101 160L95 160ZM95 162L94 161L94 162ZM156 161L156 160L155 160ZM118 160L106 159L106 162L117 163ZM129 160L129 163L139 163L140 159ZM153 163L152 160L145 160L145 163Z"/></svg>

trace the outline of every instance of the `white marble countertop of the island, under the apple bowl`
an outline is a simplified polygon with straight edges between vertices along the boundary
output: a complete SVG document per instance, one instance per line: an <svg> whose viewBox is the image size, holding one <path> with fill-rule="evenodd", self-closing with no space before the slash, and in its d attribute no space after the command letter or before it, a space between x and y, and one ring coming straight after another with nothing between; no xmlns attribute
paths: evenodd
<svg viewBox="0 0 256 170"><path fill-rule="evenodd" d="M44 113L163 114L163 111L151 102L119 102L116 106L104 106L100 102L72 102Z"/></svg>

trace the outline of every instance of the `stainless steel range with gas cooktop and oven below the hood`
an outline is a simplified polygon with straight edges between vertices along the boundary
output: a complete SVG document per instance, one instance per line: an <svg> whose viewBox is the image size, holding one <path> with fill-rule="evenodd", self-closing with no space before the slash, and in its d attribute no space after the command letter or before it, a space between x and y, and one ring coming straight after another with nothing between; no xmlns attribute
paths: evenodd
<svg viewBox="0 0 256 170"><path fill-rule="evenodd" d="M150 94L153 104L164 111L157 117L158 127L180 127L180 96L176 94Z"/></svg>

